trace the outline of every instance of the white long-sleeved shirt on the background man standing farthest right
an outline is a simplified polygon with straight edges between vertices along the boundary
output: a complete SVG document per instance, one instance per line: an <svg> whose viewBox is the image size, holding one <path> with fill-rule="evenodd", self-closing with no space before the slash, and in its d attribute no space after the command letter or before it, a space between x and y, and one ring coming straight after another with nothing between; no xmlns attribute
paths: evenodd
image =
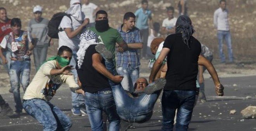
<svg viewBox="0 0 256 131"><path fill-rule="evenodd" d="M222 10L221 8L218 8L214 12L213 20L217 30L229 31L228 9Z"/></svg>

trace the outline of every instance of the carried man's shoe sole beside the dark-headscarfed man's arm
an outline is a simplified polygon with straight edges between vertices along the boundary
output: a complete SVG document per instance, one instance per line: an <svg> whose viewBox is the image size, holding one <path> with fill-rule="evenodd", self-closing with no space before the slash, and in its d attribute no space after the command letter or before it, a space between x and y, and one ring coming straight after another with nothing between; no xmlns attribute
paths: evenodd
<svg viewBox="0 0 256 131"><path fill-rule="evenodd" d="M145 88L145 94L152 94L155 91L163 89L163 87L166 84L166 79L164 78L159 78L156 81L150 83L146 88Z"/></svg>

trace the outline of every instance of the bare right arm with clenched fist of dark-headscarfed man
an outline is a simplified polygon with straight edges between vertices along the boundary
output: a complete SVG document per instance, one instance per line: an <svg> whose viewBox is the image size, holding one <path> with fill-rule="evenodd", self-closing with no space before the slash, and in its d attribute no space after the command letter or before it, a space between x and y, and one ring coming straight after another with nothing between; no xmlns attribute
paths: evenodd
<svg viewBox="0 0 256 131"><path fill-rule="evenodd" d="M216 90L217 95L218 96L223 96L224 87L220 84L218 74L217 74L215 68L213 67L213 64L211 64L211 62L209 60L207 60L205 57L203 57L202 55L199 55L198 65L206 67L206 69L210 73L211 77L213 78L213 82L214 82L214 85L215 85L215 90Z"/></svg>

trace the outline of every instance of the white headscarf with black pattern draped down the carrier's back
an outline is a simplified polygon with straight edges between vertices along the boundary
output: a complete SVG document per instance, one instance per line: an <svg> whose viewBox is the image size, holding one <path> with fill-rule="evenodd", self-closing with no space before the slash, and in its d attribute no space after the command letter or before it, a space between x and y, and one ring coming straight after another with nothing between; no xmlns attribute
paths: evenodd
<svg viewBox="0 0 256 131"><path fill-rule="evenodd" d="M79 69L81 69L81 66L83 64L86 49L90 45L99 44L98 43L98 36L92 30L86 30L83 34L81 34L80 35L80 40L81 40L80 44L78 45L79 50L76 53L77 60L78 60L77 65L78 65Z"/></svg>

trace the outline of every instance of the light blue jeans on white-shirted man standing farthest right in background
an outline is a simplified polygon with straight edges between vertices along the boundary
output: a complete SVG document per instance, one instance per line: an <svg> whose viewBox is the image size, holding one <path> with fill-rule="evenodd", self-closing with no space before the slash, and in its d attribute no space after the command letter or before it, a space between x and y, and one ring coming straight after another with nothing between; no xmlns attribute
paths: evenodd
<svg viewBox="0 0 256 131"><path fill-rule="evenodd" d="M225 62L225 55L223 54L223 49L222 49L223 37L225 37L225 40L227 43L229 61L233 62L233 51L232 51L230 32L218 30L217 36L218 36L218 42L219 42L219 55L220 55L221 62Z"/></svg>

